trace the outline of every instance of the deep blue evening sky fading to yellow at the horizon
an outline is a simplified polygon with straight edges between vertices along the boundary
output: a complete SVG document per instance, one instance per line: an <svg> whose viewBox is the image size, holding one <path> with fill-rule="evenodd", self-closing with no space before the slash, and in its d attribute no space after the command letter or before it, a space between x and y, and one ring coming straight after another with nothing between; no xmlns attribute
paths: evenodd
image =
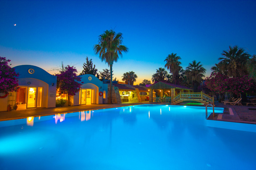
<svg viewBox="0 0 256 170"><path fill-rule="evenodd" d="M139 84L151 80L171 53L185 69L193 60L206 69L223 50L238 45L256 54L256 1L13 1L0 0L0 56L11 66L30 64L53 74L52 68L74 65L86 56L98 71L108 68L93 51L98 36L114 29L129 48L113 64L121 81L134 71ZM14 26L16 24L16 26ZM55 71L55 73L57 73Z"/></svg>

